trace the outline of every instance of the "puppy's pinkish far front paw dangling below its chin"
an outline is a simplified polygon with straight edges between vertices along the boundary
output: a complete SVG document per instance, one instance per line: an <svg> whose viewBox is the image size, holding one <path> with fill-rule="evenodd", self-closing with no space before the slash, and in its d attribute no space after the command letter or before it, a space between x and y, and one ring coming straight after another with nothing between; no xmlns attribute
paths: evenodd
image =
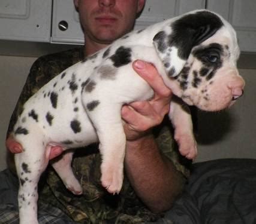
<svg viewBox="0 0 256 224"><path fill-rule="evenodd" d="M188 159L197 157L197 142L190 133L175 134L174 139L179 145L180 154Z"/></svg>

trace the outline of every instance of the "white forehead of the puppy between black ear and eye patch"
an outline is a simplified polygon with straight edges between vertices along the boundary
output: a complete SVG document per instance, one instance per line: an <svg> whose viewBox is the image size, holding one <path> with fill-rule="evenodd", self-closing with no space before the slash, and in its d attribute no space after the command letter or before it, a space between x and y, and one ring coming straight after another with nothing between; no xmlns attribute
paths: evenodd
<svg viewBox="0 0 256 224"><path fill-rule="evenodd" d="M213 43L219 44L224 50L228 51L230 59L236 62L240 55L236 31L224 19L222 19L222 22L224 23L224 26L222 26L213 36L206 39L202 45L210 45Z"/></svg>

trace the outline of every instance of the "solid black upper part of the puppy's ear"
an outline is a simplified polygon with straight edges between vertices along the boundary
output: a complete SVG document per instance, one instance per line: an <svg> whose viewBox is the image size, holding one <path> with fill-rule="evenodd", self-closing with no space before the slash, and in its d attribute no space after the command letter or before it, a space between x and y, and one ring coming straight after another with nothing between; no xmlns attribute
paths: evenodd
<svg viewBox="0 0 256 224"><path fill-rule="evenodd" d="M168 46L178 49L178 56L186 60L191 49L214 35L223 26L221 19L209 11L186 14L171 23Z"/></svg>

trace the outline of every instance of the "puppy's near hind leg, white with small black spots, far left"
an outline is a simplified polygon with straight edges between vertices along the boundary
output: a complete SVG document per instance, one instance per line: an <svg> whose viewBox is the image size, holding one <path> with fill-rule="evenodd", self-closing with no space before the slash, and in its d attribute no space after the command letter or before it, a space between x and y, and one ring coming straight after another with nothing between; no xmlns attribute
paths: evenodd
<svg viewBox="0 0 256 224"><path fill-rule="evenodd" d="M15 155L20 183L18 195L20 224L37 224L37 185L41 173L49 162L49 152L45 150L42 140L31 135L29 138L17 140L23 147L23 152Z"/></svg>

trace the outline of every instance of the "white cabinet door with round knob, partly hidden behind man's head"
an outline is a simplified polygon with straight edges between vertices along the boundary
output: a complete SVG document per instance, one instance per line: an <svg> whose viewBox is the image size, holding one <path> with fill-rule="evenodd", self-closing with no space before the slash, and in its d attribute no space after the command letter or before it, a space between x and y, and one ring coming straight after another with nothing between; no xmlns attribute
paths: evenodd
<svg viewBox="0 0 256 224"><path fill-rule="evenodd" d="M204 7L205 0L147 0L134 29L143 29L150 24ZM73 1L53 0L52 42L83 43L79 16Z"/></svg>

